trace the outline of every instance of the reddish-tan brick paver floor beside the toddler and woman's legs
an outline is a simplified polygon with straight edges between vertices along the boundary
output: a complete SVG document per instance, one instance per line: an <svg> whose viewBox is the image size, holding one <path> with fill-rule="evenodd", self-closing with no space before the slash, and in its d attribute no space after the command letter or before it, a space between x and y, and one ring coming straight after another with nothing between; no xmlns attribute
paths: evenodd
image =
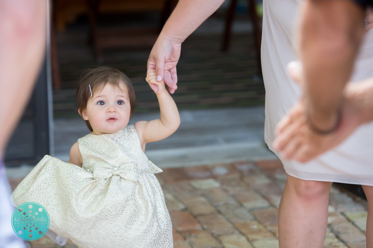
<svg viewBox="0 0 373 248"><path fill-rule="evenodd" d="M280 161L164 169L156 174L175 248L276 248L286 174ZM12 187L17 181L11 181ZM366 247L367 203L332 187L325 248ZM47 236L33 248L61 247ZM75 248L66 244L65 248Z"/></svg>

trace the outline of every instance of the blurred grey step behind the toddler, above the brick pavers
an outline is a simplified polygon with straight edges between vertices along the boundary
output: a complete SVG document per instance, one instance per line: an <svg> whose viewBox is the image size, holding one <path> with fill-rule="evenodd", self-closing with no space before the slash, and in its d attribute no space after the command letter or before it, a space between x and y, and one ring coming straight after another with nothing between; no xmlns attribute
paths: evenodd
<svg viewBox="0 0 373 248"><path fill-rule="evenodd" d="M264 106L183 110L180 117L181 125L173 135L146 145L145 154L160 168L277 158L264 143ZM129 124L158 118L159 113L140 113ZM88 133L83 119L55 119L53 156L67 162L71 146ZM7 176L25 177L32 168L7 168Z"/></svg>

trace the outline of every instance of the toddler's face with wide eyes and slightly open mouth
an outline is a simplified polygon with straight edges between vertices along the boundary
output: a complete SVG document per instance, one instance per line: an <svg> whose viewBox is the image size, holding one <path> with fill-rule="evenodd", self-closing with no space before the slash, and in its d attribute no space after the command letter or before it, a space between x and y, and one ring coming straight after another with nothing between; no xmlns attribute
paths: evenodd
<svg viewBox="0 0 373 248"><path fill-rule="evenodd" d="M88 99L82 117L90 121L93 134L115 133L128 124L131 112L128 89L124 84L121 87L118 89L106 84Z"/></svg>

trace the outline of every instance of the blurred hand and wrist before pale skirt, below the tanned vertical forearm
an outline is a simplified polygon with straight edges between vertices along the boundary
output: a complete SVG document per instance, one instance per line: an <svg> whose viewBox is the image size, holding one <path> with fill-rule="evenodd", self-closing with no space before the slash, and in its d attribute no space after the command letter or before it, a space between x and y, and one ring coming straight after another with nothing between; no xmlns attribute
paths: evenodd
<svg viewBox="0 0 373 248"><path fill-rule="evenodd" d="M293 62L288 69L292 78L300 83L301 65ZM307 121L307 102L301 97L277 124L273 147L281 152L284 159L299 162L307 162L319 156L344 141L362 123L372 119L373 104L369 102L372 95L373 78L361 83L347 84L339 126L328 135L319 135L310 128Z"/></svg>

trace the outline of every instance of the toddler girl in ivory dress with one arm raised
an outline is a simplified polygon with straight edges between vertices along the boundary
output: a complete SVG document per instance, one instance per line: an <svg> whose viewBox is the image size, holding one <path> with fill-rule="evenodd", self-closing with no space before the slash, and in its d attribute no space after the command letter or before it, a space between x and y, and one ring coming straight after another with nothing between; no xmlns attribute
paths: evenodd
<svg viewBox="0 0 373 248"><path fill-rule="evenodd" d="M50 216L48 236L82 248L172 248L162 172L144 154L148 142L171 135L179 112L154 70L161 119L127 125L135 104L131 81L110 67L87 70L76 93L92 131L78 139L68 163L46 155L11 195L13 206L37 202ZM63 242L64 241L64 242Z"/></svg>

